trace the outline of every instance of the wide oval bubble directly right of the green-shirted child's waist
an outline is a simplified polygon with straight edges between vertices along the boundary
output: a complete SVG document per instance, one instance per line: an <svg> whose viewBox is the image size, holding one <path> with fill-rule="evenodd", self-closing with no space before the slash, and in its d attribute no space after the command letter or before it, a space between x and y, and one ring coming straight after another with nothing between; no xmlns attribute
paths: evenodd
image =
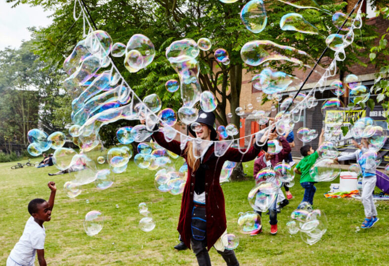
<svg viewBox="0 0 389 266"><path fill-rule="evenodd" d="M332 181L339 176L340 165L334 159L323 158L315 162L309 174L316 182Z"/></svg>

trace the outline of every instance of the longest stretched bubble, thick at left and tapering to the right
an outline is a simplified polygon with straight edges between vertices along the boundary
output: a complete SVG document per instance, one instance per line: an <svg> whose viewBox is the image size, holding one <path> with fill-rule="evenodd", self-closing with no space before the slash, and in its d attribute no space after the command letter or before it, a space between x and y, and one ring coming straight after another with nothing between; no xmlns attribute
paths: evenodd
<svg viewBox="0 0 389 266"><path fill-rule="evenodd" d="M303 65L303 62L314 64L313 58L304 51L290 46L282 46L268 40L250 41L241 49L242 60L252 66L269 60L286 60Z"/></svg>

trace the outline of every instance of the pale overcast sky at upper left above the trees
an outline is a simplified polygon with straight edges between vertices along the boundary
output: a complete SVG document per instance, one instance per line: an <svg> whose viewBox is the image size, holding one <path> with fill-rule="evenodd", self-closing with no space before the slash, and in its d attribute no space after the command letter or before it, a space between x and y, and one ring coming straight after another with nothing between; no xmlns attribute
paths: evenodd
<svg viewBox="0 0 389 266"><path fill-rule="evenodd" d="M0 50L7 46L17 48L22 40L29 40L27 27L48 26L51 23L50 12L41 7L19 4L11 8L11 3L0 0Z"/></svg>

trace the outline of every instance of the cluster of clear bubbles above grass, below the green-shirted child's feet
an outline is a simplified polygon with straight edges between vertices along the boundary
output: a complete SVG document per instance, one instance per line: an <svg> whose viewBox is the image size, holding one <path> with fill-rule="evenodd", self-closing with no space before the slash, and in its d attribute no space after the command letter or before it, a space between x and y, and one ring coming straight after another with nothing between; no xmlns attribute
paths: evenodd
<svg viewBox="0 0 389 266"><path fill-rule="evenodd" d="M313 210L308 202L300 203L290 217L286 223L289 233L293 235L300 231L301 239L309 245L317 243L327 231L328 222L324 212Z"/></svg>

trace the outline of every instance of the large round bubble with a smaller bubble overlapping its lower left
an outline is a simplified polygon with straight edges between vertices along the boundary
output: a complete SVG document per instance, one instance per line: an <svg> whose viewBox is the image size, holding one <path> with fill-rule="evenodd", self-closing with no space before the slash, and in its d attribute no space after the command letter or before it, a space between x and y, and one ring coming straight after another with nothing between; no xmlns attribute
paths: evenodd
<svg viewBox="0 0 389 266"><path fill-rule="evenodd" d="M142 34L134 34L130 38L126 47L126 54L131 50L137 50L143 57L141 68L149 65L155 56L155 49L153 43L149 38Z"/></svg>

